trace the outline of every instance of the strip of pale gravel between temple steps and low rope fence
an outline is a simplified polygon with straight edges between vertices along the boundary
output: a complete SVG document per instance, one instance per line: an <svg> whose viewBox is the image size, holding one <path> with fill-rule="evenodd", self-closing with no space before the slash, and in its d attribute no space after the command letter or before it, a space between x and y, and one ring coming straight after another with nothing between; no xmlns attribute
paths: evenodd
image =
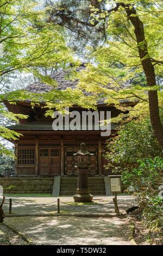
<svg viewBox="0 0 163 256"><path fill-rule="evenodd" d="M118 196L118 207L121 213L130 208L134 198L131 196ZM53 203L55 202L55 203ZM74 203L72 197L60 197L60 211L70 213L106 213L114 214L112 197L94 197L92 203ZM9 198L4 203L5 214L9 213ZM47 214L57 212L57 198L48 197L12 197L12 214Z"/></svg>

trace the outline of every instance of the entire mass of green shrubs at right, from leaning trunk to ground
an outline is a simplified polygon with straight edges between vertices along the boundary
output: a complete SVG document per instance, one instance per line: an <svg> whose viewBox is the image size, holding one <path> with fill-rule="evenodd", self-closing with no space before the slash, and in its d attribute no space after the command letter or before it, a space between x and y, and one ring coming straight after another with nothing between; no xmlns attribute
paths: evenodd
<svg viewBox="0 0 163 256"><path fill-rule="evenodd" d="M163 202L158 197L159 186L163 184L163 152L149 117L121 127L107 147L108 168L122 174L127 191L136 197L140 218L150 237L159 237L163 232Z"/></svg>

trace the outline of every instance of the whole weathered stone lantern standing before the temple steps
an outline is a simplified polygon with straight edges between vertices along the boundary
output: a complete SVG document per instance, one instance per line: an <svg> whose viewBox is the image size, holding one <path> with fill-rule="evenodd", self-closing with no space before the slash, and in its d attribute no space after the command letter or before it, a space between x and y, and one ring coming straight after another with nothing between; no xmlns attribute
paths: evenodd
<svg viewBox="0 0 163 256"><path fill-rule="evenodd" d="M88 188L88 172L91 156L94 154L89 153L85 143L80 144L80 150L74 153L73 156L78 157L76 166L78 168L78 188L77 193L74 194L73 199L75 202L91 202L93 196Z"/></svg>

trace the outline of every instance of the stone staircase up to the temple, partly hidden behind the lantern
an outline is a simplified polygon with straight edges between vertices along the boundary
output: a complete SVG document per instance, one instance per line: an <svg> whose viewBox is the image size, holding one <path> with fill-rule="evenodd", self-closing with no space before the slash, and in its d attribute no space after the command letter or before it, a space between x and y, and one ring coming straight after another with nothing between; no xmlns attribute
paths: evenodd
<svg viewBox="0 0 163 256"><path fill-rule="evenodd" d="M93 195L105 195L103 176L89 177L89 190ZM60 196L73 196L77 190L77 177L61 177Z"/></svg>

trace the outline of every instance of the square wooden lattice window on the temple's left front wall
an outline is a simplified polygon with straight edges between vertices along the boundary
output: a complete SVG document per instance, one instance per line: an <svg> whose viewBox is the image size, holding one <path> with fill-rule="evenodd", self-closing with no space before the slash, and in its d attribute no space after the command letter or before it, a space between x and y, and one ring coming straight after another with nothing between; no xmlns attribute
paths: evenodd
<svg viewBox="0 0 163 256"><path fill-rule="evenodd" d="M35 149L18 149L18 165L34 165Z"/></svg>

